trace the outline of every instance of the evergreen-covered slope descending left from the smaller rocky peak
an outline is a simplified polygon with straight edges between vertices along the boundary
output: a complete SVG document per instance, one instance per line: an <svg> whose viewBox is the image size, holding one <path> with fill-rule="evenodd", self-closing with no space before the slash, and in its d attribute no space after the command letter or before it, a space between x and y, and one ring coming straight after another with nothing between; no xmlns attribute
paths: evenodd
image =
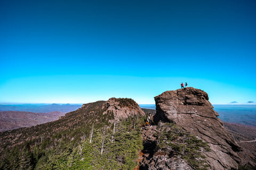
<svg viewBox="0 0 256 170"><path fill-rule="evenodd" d="M133 169L142 149L142 120L134 116L116 122L114 133L109 121L114 114L103 115L102 104L86 104L58 121L24 132L0 134L4 139L0 169ZM19 144L9 147L15 140Z"/></svg>

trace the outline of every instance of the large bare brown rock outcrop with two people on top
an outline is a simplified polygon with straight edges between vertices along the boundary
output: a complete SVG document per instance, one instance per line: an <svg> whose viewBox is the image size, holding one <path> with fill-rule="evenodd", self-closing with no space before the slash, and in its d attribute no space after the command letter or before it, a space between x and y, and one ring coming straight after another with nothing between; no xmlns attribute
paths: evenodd
<svg viewBox="0 0 256 170"><path fill-rule="evenodd" d="M217 112L206 92L192 87L165 91L155 97L155 122L172 122L183 130L209 143L211 151L205 152L209 169L237 169L241 147L223 128Z"/></svg>

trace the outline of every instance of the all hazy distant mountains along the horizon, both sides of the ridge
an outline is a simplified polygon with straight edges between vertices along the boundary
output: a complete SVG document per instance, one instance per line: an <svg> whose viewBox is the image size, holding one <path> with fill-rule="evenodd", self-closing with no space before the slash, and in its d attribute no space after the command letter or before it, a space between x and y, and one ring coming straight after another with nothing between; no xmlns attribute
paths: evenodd
<svg viewBox="0 0 256 170"><path fill-rule="evenodd" d="M156 106L139 105L141 108L154 109ZM256 127L256 105L213 105L223 122L238 123ZM58 120L60 116L75 111L82 105L74 104L13 104L0 105L0 131L30 127ZM146 110L145 110L146 111Z"/></svg>

